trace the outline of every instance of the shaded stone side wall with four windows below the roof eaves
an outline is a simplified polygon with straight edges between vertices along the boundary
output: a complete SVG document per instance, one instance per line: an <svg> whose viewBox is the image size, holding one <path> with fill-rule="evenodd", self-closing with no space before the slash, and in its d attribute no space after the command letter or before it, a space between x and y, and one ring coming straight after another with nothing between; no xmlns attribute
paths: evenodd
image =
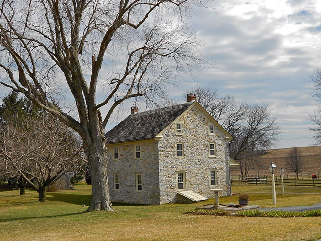
<svg viewBox="0 0 321 241"><path fill-rule="evenodd" d="M135 147L141 146L141 157L135 158ZM160 204L157 141L108 145L108 186L112 202ZM118 147L118 159L114 159ZM119 174L119 190L114 189L114 174ZM142 173L142 191L136 191L135 174Z"/></svg>

